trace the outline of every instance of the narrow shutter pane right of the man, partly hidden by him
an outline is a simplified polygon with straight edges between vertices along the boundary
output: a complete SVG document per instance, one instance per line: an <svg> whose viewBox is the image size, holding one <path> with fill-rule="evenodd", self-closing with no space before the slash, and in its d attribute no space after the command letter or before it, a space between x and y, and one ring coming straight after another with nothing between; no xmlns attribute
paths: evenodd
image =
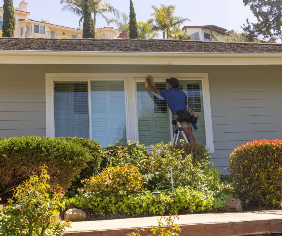
<svg viewBox="0 0 282 236"><path fill-rule="evenodd" d="M179 89L182 89L187 95L187 108L195 111L199 115L197 121L197 130L192 130L196 143L205 145L205 119L203 109L203 95L201 81L180 81Z"/></svg>

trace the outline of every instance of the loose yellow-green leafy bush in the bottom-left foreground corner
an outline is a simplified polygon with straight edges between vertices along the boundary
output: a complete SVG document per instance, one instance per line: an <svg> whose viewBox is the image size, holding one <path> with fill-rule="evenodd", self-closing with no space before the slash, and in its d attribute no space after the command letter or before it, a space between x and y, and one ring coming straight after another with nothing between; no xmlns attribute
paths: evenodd
<svg viewBox="0 0 282 236"><path fill-rule="evenodd" d="M60 200L61 187L51 189L47 167L40 167L40 176L33 175L16 187L9 205L0 211L1 235L63 235L69 223L57 220L58 209L64 209Z"/></svg>

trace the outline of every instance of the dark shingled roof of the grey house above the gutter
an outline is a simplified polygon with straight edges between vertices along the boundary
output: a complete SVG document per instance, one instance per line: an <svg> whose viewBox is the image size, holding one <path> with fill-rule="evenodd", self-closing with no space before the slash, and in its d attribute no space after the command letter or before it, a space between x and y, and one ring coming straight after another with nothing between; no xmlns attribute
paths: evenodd
<svg viewBox="0 0 282 236"><path fill-rule="evenodd" d="M282 44L190 40L0 38L1 50L78 52L282 53Z"/></svg>

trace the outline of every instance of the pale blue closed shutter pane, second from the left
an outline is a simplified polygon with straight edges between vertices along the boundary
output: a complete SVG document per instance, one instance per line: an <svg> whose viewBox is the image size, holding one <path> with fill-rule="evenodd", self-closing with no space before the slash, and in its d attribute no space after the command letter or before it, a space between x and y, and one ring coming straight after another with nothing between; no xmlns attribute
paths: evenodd
<svg viewBox="0 0 282 236"><path fill-rule="evenodd" d="M123 81L91 81L92 139L107 147L126 144Z"/></svg>

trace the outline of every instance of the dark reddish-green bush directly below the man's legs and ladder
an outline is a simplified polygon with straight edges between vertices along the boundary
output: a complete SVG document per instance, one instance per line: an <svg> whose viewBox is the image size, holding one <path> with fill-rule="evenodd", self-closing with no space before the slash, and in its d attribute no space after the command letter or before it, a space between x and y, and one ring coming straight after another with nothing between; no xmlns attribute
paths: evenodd
<svg viewBox="0 0 282 236"><path fill-rule="evenodd" d="M176 149L184 150L185 155L192 155L193 164L206 164L209 163L210 156L207 153L204 145L198 143L182 143L179 146L176 146Z"/></svg>

